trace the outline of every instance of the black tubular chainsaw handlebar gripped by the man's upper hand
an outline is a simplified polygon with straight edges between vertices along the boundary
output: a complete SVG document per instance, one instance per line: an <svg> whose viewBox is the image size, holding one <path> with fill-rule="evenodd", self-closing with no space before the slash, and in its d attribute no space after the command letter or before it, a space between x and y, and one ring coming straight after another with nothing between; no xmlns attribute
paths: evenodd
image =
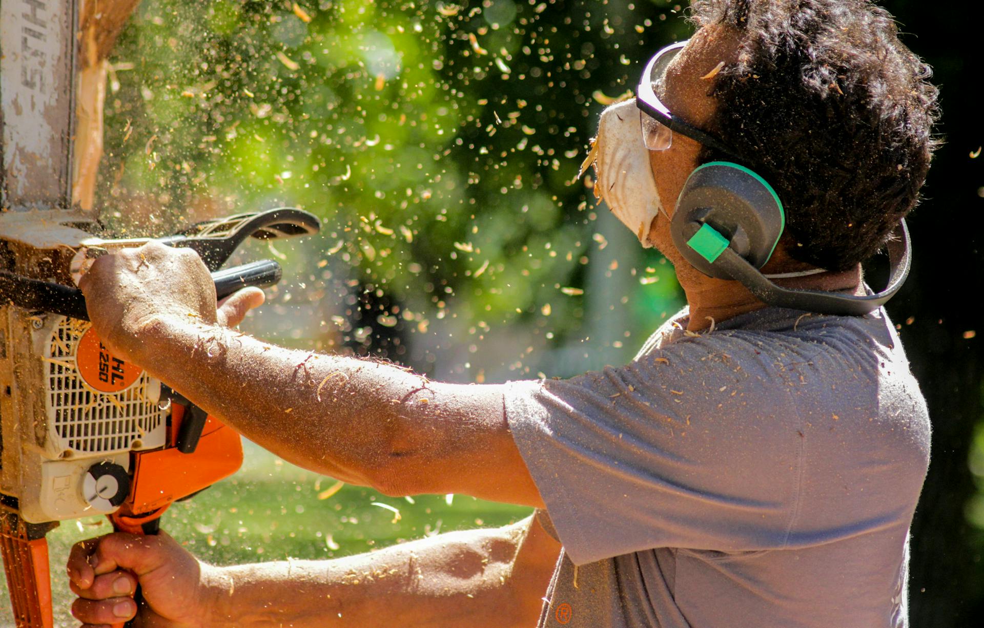
<svg viewBox="0 0 984 628"><path fill-rule="evenodd" d="M282 276L283 269L273 259L261 259L241 266L217 270L212 273L212 279L215 281L215 297L224 299L247 286L258 288L272 286ZM82 291L60 283L40 281L0 270L0 296L25 310L40 310L89 320L86 297Z"/></svg>

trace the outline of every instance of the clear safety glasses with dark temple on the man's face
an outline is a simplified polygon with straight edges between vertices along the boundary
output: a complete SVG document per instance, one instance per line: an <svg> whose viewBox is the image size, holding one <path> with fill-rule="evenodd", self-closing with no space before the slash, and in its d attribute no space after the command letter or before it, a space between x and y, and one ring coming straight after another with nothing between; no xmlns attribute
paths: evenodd
<svg viewBox="0 0 984 628"><path fill-rule="evenodd" d="M646 63L646 70L643 72L639 88L636 90L636 106L639 107L640 121L643 127L643 142L646 143L646 148L649 150L666 150L673 145L673 134L679 133L724 153L733 161L738 161L733 148L674 116L666 105L656 97L656 89L663 82L666 69L677 53L687 45L687 41L678 41L666 46Z"/></svg>

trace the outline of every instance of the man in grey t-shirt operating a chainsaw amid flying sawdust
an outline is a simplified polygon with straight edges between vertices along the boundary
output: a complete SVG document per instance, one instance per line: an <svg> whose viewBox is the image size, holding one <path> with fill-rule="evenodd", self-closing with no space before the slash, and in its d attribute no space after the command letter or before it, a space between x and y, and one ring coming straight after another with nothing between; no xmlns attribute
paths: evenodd
<svg viewBox="0 0 984 628"><path fill-rule="evenodd" d="M865 0L706 0L694 20L653 87L679 129L732 148L785 203L763 271L864 294L859 262L916 203L929 167L927 72ZM621 135L642 129L619 106L598 158L622 165L599 174L633 231L633 190L652 188L639 236L674 262L689 304L626 367L454 385L321 356L305 373L302 354L229 329L259 291L216 311L187 251L100 258L82 285L100 336L284 459L390 495L541 510L362 556L228 568L166 535L108 535L73 549L76 616L134 616L125 596L139 580L148 626L906 625L929 422L891 322L766 307L691 267L670 238L674 207L658 199L676 199L715 148L677 131L646 153ZM651 181L616 186L638 172L636 150Z"/></svg>

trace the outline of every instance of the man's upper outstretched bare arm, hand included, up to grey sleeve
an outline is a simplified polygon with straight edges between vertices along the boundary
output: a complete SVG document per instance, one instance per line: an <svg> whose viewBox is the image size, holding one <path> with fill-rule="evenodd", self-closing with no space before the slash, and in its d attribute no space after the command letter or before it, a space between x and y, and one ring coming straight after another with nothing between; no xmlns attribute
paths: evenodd
<svg viewBox="0 0 984 628"><path fill-rule="evenodd" d="M186 250L153 244L101 257L82 287L114 349L299 466L392 495L542 506L501 386L432 382L229 329L216 321L208 271Z"/></svg>

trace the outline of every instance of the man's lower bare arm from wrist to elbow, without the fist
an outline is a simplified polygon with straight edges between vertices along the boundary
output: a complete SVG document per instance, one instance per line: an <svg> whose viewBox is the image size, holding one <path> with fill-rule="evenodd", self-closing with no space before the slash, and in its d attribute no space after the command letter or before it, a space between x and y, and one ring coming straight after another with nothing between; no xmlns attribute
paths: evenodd
<svg viewBox="0 0 984 628"><path fill-rule="evenodd" d="M215 571L215 626L535 625L559 545L530 519L337 560Z"/></svg>

